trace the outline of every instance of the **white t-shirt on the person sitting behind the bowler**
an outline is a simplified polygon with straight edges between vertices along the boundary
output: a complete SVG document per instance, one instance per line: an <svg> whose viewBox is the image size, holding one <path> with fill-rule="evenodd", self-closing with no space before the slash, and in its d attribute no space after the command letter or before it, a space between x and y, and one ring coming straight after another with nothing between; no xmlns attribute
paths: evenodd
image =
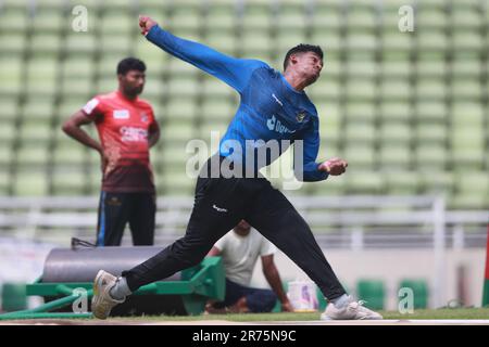
<svg viewBox="0 0 489 347"><path fill-rule="evenodd" d="M244 286L250 285L258 257L277 252L277 247L254 229L247 236L240 236L231 230L214 247L221 250L226 278Z"/></svg>

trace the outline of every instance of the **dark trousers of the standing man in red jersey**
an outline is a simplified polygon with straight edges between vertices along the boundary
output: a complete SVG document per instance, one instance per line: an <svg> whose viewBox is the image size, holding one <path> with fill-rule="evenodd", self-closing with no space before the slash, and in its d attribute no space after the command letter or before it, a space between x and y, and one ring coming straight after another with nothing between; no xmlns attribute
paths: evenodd
<svg viewBox="0 0 489 347"><path fill-rule="evenodd" d="M129 222L135 246L153 245L155 213L156 203L153 193L102 191L99 204L97 246L120 246L127 222Z"/></svg>

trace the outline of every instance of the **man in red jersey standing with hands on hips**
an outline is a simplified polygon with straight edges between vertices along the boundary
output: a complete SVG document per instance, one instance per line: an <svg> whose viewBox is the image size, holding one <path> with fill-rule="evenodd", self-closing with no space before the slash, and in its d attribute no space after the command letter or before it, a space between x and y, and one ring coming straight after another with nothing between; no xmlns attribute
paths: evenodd
<svg viewBox="0 0 489 347"><path fill-rule="evenodd" d="M152 245L155 189L149 149L160 138L151 105L139 99L146 79L142 61L117 65L118 89L91 99L63 124L63 131L100 153L102 192L97 245L118 246L129 222L134 245ZM100 142L82 126L95 123Z"/></svg>

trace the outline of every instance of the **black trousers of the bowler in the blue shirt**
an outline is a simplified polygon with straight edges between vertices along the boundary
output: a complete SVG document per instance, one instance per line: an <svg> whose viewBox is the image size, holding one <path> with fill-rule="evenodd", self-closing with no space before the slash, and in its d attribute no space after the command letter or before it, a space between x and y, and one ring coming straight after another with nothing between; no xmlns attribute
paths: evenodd
<svg viewBox="0 0 489 347"><path fill-rule="evenodd" d="M210 172L210 162L202 171ZM154 257L124 271L130 291L198 265L214 243L241 219L294 261L327 299L346 293L308 223L284 194L265 178L235 177L198 178L185 236Z"/></svg>

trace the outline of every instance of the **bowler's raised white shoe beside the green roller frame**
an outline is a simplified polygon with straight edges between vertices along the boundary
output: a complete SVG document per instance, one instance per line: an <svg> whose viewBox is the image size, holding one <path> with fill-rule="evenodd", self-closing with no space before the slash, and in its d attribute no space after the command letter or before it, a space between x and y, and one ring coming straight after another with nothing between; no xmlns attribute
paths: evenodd
<svg viewBox="0 0 489 347"><path fill-rule="evenodd" d="M110 291L115 285L117 278L106 271L100 270L93 281L93 297L91 298L91 311L98 319L106 319L114 306L125 301L114 299Z"/></svg>

